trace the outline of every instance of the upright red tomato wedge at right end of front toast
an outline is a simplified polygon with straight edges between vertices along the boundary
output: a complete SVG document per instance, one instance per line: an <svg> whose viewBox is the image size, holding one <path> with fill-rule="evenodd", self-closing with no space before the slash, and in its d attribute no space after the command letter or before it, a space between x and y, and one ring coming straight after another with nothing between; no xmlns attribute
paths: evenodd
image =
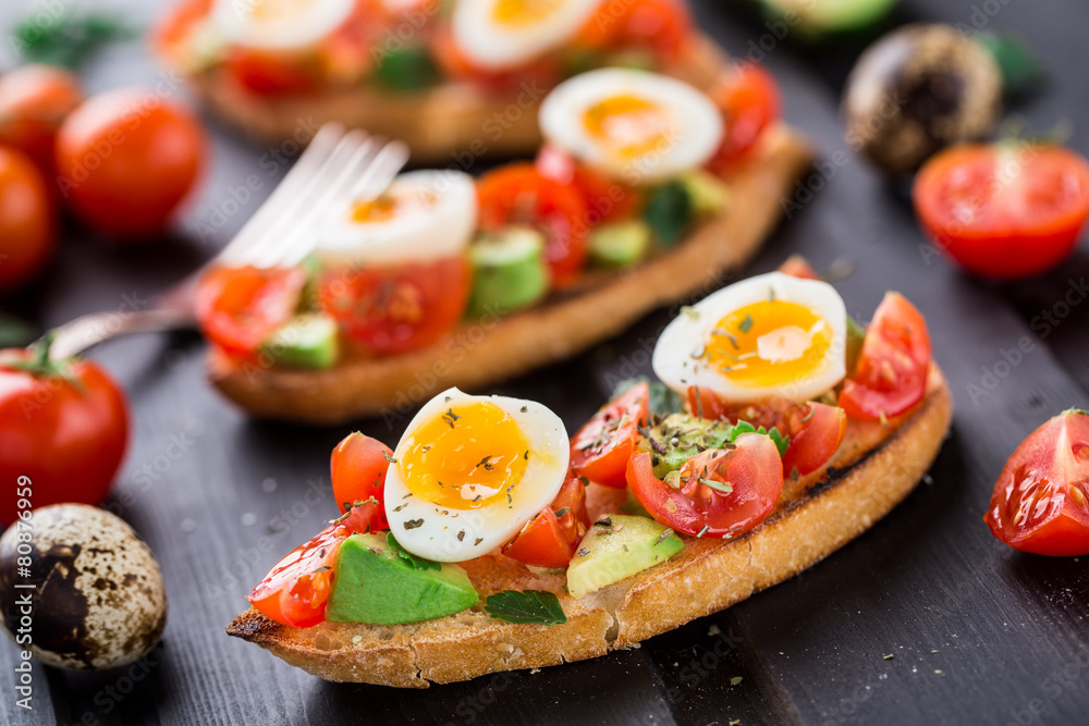
<svg viewBox="0 0 1089 726"><path fill-rule="evenodd" d="M886 293L873 313L840 405L855 419L903 414L922 401L930 371L930 333L922 313L900 293Z"/></svg>

